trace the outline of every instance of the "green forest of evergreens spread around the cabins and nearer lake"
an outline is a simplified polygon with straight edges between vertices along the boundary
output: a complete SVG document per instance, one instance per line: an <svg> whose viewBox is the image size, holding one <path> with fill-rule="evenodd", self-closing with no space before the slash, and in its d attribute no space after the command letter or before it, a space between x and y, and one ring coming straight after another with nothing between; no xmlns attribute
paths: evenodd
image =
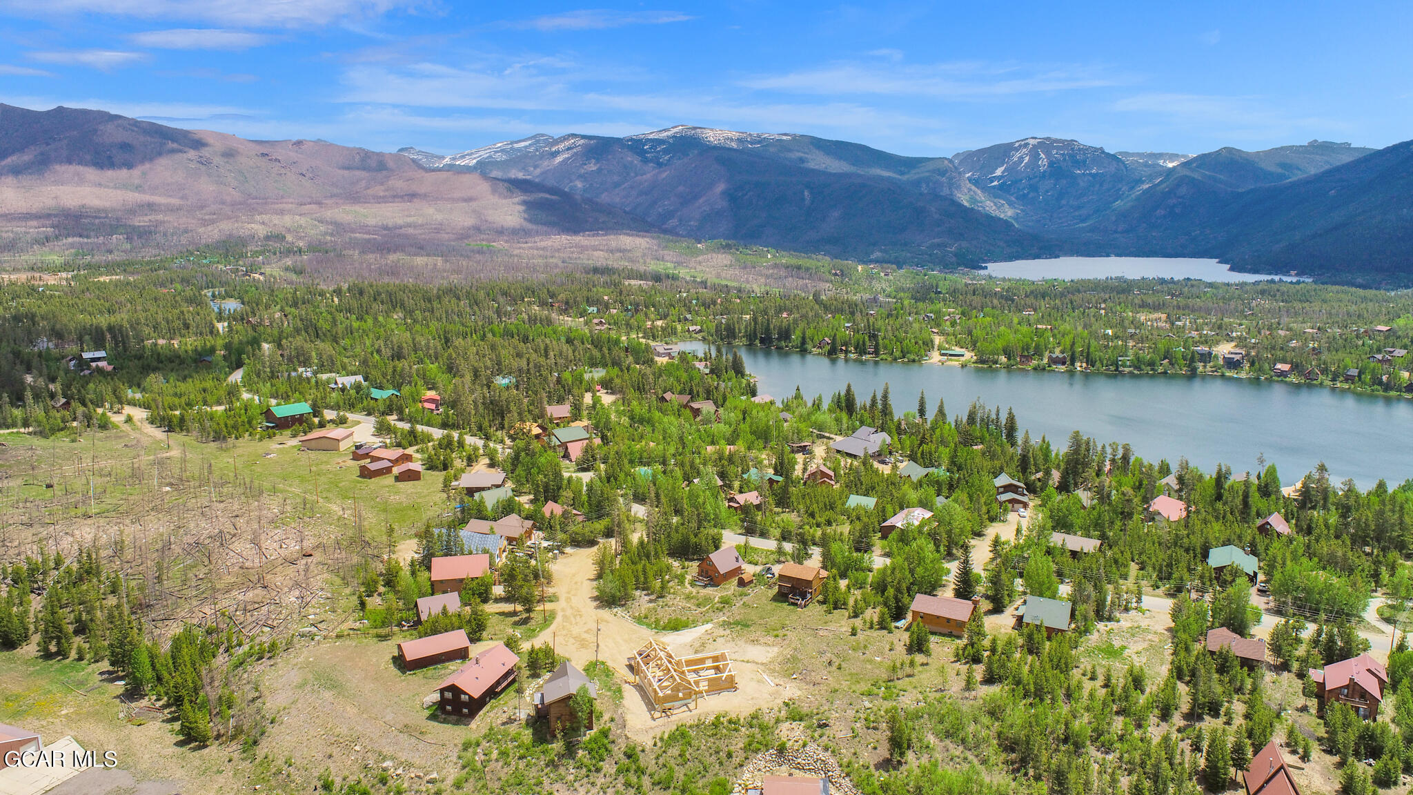
<svg viewBox="0 0 1413 795"><path fill-rule="evenodd" d="M877 279L892 284L872 298L625 282L608 272L439 287L324 289L195 269L113 280L78 276L42 289L11 282L0 286L0 426L73 434L106 427L112 420L100 409L136 405L155 424L215 441L274 436L263 426L266 406L305 400L315 423L328 422L325 409L377 417L380 431L415 447L447 487L482 458L503 468L526 499L448 501L452 519L408 529L418 553L406 567L387 560L362 571L360 607L370 624L390 632L430 593L430 557L459 550L459 536L447 525L509 513L544 519L547 535L562 545L613 539L596 557L605 605L681 588L690 566L718 549L725 532L773 539L781 559L801 562L818 552L831 573L822 610L848 611L855 632L892 632L918 593L978 594L988 608L1006 610L1022 588L1054 597L1064 587L1075 632L988 635L979 621L969 625L952 662L966 666L966 689L986 687L982 699L931 693L887 707L882 721L896 764L851 764L865 792L1167 795L1194 792L1200 779L1221 789L1234 765L1273 737L1308 758L1308 737L1293 729L1277 734L1289 719L1263 695L1270 675L1249 673L1229 651L1210 654L1198 644L1211 627L1241 635L1252 629L1249 583L1232 567L1215 571L1207 553L1235 545L1259 559L1259 577L1284 614L1272 638L1275 676L1304 676L1310 666L1365 648L1352 627L1371 594L1381 591L1396 607L1413 598L1405 562L1413 547L1413 482L1379 481L1361 491L1349 481L1330 482L1321 467L1304 474L1300 488L1283 489L1275 467L1249 475L1228 467L1202 472L1186 461L1145 461L1122 440L1078 433L1063 441L1031 439L1009 412L971 405L948 413L942 400L926 398L894 406L886 386L863 396L851 385L812 400L797 389L780 405L757 403L740 356L716 348L698 358L656 358L650 342L699 334L721 344L836 355L872 347L873 355L918 359L935 348L937 328L944 345L966 347L983 362L1015 362L1033 351L1068 352L1095 368L1118 366L1122 355L1135 368L1160 368L1167 359L1173 369L1190 369L1187 331L1231 340L1225 335L1241 327L1252 371L1266 356L1296 351L1286 340L1301 341L1296 354L1306 358L1297 362L1337 369L1385 344L1409 344L1407 298L1289 284L1174 283L1135 293L1132 283L1108 282L996 287L900 272ZM216 314L211 290L239 308ZM1139 315L1149 320L1133 320ZM1195 320L1178 327L1180 318ZM1393 328L1382 335L1355 331L1376 324ZM1304 347L1307 325L1318 331L1317 354ZM83 351L105 351L112 372L83 375L83 361L72 359ZM1375 386L1369 378L1379 373L1358 366L1366 373L1361 383ZM237 368L240 379L232 381ZM360 375L363 383L333 389L325 373ZM1399 383L1395 375L1388 388ZM397 393L377 398L373 389ZM418 405L427 392L442 396L439 413ZM694 416L664 393L711 400L719 412ZM571 420L593 429L593 441L572 463L537 443L531 427L545 422L545 406L560 403L569 405ZM394 429L387 422L394 417L451 433L432 440ZM889 463L844 458L827 446L791 450L862 426L889 434L882 450ZM904 475L904 460L927 471ZM805 482L814 465L828 467L838 487ZM975 570L974 539L1005 515L993 487L1000 474L1036 495L1034 513L1019 538L998 538L991 560ZM1284 480L1291 475L1300 474ZM759 491L760 504L728 508L729 494L746 491ZM1187 505L1184 519L1152 519L1147 506L1164 492ZM849 495L875 504L848 508ZM550 501L582 512L584 521L545 518ZM640 516L630 513L632 505L643 506ZM934 515L880 540L880 523L911 506ZM1293 532L1258 532L1277 512ZM1102 546L1071 557L1054 546L1056 532ZM880 566L875 555L883 557ZM122 574L105 571L93 553L8 562L0 570L7 583L0 645L20 648L38 637L45 656L106 659L134 689L162 697L188 738L257 741L264 721L252 706L256 685L242 671L287 641L252 642L215 624L158 635L141 625L143 587ZM538 562L517 560L500 577L503 598L533 611L550 574ZM1173 597L1173 644L1161 673L1135 663L1080 665L1087 637L1137 607L1145 590ZM468 583L465 593L476 605L492 598L485 581ZM478 638L486 629L476 610L456 622ZM909 652L931 654L926 634L909 638ZM1392 723L1361 723L1331 710L1321 737L1345 762L1378 760L1372 781L1381 787L1403 770L1413 772L1413 652L1400 646L1389 662ZM1208 716L1224 720L1204 723ZM728 729L750 730L752 720ZM725 731L721 723L695 741ZM705 757L685 761L692 741L673 733L653 751L651 770L637 745L606 736L577 751L545 744L517 753L575 755L581 772L574 775L605 791L622 782L644 792L692 792L715 775ZM520 738L497 729L476 743L513 748ZM961 748L971 770L927 761L927 748L938 743ZM678 745L681 770L663 784L663 754ZM610 754L616 770L602 764ZM463 770L483 774L492 757L466 755ZM1342 770L1352 771L1351 792L1371 787L1371 774L1356 764ZM691 785L682 784L688 779Z"/></svg>

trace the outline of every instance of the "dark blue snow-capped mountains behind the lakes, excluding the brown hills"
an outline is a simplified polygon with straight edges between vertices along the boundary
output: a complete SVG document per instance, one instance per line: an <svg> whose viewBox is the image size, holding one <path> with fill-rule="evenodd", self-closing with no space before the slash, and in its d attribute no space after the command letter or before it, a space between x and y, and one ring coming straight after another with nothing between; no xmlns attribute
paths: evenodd
<svg viewBox="0 0 1413 795"><path fill-rule="evenodd" d="M1383 150L1393 151L1399 146ZM1399 253L1413 242L1403 221L1413 202L1395 187L1399 158L1386 154L1382 170L1354 166L1378 150L1344 143L1186 156L1031 137L903 157L812 136L678 126L400 153L430 170L552 185L677 235L853 259L1205 256L1359 284L1413 282L1413 263ZM1313 202L1325 181L1341 182L1338 195L1318 211L1294 207ZM1361 222L1371 205L1381 221Z"/></svg>

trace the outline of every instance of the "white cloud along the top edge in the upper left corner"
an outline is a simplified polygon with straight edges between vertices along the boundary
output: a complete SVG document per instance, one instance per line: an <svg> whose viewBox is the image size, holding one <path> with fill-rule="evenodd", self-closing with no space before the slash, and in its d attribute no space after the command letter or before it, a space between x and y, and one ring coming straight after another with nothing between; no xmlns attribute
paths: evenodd
<svg viewBox="0 0 1413 795"><path fill-rule="evenodd" d="M424 0L8 0L6 11L41 18L99 14L271 28L360 21L424 4Z"/></svg>

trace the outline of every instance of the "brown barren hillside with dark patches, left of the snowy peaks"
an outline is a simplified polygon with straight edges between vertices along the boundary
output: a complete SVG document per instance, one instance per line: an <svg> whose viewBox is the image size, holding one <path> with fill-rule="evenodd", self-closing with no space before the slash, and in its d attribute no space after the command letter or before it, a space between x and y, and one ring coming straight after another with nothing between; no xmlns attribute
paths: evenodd
<svg viewBox="0 0 1413 795"><path fill-rule="evenodd" d="M218 240L461 257L466 243L653 229L557 188L326 141L0 106L0 255L151 256ZM571 246L595 249L596 246ZM575 256L598 260L591 250Z"/></svg>

